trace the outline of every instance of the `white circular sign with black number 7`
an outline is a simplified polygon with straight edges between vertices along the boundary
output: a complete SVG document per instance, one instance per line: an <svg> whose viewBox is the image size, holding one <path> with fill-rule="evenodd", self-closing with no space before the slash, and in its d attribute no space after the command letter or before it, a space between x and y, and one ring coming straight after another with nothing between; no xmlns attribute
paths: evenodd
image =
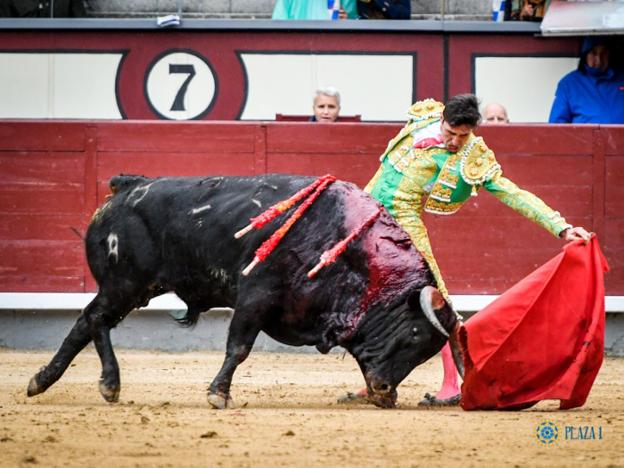
<svg viewBox="0 0 624 468"><path fill-rule="evenodd" d="M208 61L192 51L168 52L147 71L145 95L158 115L172 120L191 120L212 105L217 82Z"/></svg>

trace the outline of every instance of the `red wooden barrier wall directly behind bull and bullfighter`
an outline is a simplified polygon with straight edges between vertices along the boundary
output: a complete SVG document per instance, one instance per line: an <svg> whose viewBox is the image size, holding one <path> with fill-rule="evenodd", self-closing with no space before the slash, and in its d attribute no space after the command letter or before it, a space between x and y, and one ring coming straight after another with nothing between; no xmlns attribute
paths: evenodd
<svg viewBox="0 0 624 468"><path fill-rule="evenodd" d="M0 123L0 291L93 291L81 236L121 172L332 173L363 186L394 124L242 122ZM504 173L595 231L624 295L624 127L482 127ZM450 217L426 215L452 294L496 294L562 241L482 192Z"/></svg>

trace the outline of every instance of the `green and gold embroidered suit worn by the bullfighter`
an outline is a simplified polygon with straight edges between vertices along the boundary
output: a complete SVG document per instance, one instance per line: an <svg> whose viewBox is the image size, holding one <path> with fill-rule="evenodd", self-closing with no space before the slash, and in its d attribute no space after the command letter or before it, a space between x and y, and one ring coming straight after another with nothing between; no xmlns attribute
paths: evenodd
<svg viewBox="0 0 624 468"><path fill-rule="evenodd" d="M448 291L422 221L423 209L437 215L457 212L481 187L507 206L536 222L554 236L571 227L556 211L535 195L503 177L492 150L481 137L470 134L457 153L436 146L414 148L418 133L440 122L443 104L432 99L410 107L409 120L381 155L381 166L365 190L379 200L407 231L425 257L448 299Z"/></svg>

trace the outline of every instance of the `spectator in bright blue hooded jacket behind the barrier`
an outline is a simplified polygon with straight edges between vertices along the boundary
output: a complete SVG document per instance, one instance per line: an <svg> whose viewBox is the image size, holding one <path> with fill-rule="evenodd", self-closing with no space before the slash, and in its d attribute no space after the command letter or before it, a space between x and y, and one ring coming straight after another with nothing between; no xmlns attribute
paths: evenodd
<svg viewBox="0 0 624 468"><path fill-rule="evenodd" d="M610 66L605 37L589 37L581 46L578 68L557 85L550 123L624 123L624 73Z"/></svg>

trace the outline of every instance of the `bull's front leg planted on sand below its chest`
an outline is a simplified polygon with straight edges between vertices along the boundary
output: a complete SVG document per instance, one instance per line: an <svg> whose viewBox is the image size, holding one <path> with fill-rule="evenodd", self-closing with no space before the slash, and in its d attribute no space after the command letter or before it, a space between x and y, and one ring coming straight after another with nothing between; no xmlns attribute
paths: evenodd
<svg viewBox="0 0 624 468"><path fill-rule="evenodd" d="M216 409L232 406L230 385L234 371L240 363L247 359L258 333L260 333L260 314L252 317L239 313L239 310L236 309L230 323L225 360L208 391L208 403Z"/></svg>

